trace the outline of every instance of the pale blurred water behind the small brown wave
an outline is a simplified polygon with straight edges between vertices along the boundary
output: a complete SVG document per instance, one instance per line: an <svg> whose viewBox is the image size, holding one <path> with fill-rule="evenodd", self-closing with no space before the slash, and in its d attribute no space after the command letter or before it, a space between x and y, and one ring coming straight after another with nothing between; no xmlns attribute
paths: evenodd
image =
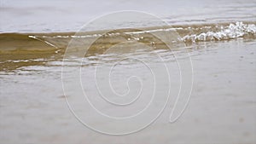
<svg viewBox="0 0 256 144"><path fill-rule="evenodd" d="M75 32L89 20L119 10L154 14L171 25L255 21L254 0L1 0L0 32Z"/></svg>

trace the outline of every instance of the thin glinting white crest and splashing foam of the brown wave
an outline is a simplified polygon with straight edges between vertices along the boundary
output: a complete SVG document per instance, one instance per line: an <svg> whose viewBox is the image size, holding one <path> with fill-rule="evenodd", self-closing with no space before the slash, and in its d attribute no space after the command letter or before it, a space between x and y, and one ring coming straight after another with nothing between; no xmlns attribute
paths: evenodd
<svg viewBox="0 0 256 144"><path fill-rule="evenodd" d="M143 30L145 29L145 30ZM177 32L177 34L180 37L176 37L177 40L173 41L174 43L177 42L201 42L201 41L220 41L220 40L228 40L228 39L234 39L237 37L244 37L244 36L253 36L256 34L256 26L255 24L244 24L243 22L236 22L236 23L230 23L230 24L209 24L209 25L197 25L197 26L172 26L172 27L166 27L166 28L142 28L143 31L130 31L126 32L108 32L107 34L102 33L91 33L90 34L84 34L79 36L29 36L36 39L47 39L52 45L55 38L62 38L62 39L71 39L71 38L90 38L90 37L117 37L120 36L121 33L125 33L127 35L130 35L131 37L128 37L127 40L135 40L140 41L144 34L146 33L154 33L154 32ZM47 42L47 41L46 41ZM55 43L58 45L58 43Z"/></svg>

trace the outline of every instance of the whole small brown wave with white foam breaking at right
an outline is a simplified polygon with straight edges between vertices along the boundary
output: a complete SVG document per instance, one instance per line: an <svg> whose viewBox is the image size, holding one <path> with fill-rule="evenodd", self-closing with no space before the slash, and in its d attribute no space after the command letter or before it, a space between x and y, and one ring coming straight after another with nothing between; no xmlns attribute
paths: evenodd
<svg viewBox="0 0 256 144"><path fill-rule="evenodd" d="M195 43L202 41L221 41L242 38L255 38L255 22L217 23L203 25L183 25L183 26L155 26L137 29L113 30L104 33L82 32L76 35L75 32L55 32L55 33L0 33L0 53L18 51L49 52L59 53L60 49L66 49L72 39L79 39L78 42L89 42L95 37L103 37L100 44L113 45L119 42L119 38L127 41L137 41L140 43L157 43L152 35L165 35L166 32L174 32L171 43ZM110 43L111 42L111 43ZM78 47L80 43L77 43ZM160 46L161 43L158 43ZM100 45L102 46L102 45ZM98 48L95 45L95 48Z"/></svg>

